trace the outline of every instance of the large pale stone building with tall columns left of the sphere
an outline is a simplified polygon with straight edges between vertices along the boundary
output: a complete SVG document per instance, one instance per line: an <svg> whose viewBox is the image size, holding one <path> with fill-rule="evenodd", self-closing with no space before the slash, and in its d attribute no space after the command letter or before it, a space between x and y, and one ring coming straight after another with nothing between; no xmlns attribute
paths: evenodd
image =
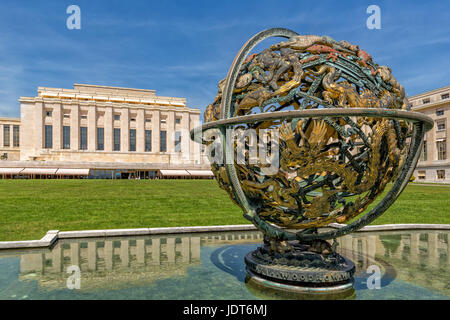
<svg viewBox="0 0 450 320"><path fill-rule="evenodd" d="M135 170L133 177L145 178L160 169L209 169L189 134L200 110L184 98L75 84L39 87L36 97L19 101L20 119L0 118L0 155L11 160L0 167L87 168L101 177Z"/></svg>

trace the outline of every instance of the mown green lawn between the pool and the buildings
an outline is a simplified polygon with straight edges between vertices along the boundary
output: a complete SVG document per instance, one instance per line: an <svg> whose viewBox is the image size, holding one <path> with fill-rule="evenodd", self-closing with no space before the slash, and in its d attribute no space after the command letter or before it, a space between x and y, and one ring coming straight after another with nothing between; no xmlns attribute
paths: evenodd
<svg viewBox="0 0 450 320"><path fill-rule="evenodd" d="M213 180L0 180L0 240L48 230L248 223ZM410 185L374 224L450 223L450 187Z"/></svg>

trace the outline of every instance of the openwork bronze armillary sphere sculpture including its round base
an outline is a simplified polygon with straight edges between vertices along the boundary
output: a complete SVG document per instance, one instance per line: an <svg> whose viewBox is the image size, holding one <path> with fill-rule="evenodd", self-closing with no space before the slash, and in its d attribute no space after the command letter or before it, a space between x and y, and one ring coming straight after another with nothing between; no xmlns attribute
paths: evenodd
<svg viewBox="0 0 450 320"><path fill-rule="evenodd" d="M270 37L287 40L249 55ZM241 48L206 108L205 124L191 136L212 145L195 133L219 130L224 161L211 161L211 168L265 235L264 245L246 256L250 280L293 291L352 287L353 263L326 240L370 223L405 188L433 126L407 109L391 69L347 41L275 28ZM272 165L276 159L278 170L250 163L251 139L231 141L229 129L255 132L257 143L271 129L276 151L266 158ZM235 156L237 149L243 151ZM387 195L362 215L389 182ZM348 224L324 228L333 222Z"/></svg>

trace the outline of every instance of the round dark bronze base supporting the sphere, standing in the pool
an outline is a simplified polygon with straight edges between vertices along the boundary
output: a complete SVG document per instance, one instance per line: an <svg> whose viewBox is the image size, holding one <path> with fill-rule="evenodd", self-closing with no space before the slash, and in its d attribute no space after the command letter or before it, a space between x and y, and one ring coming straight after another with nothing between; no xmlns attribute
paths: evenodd
<svg viewBox="0 0 450 320"><path fill-rule="evenodd" d="M245 256L247 283L259 288L307 296L351 295L355 265L336 252L323 255L292 243L284 254L272 253L267 245ZM306 248L306 249L305 249Z"/></svg>

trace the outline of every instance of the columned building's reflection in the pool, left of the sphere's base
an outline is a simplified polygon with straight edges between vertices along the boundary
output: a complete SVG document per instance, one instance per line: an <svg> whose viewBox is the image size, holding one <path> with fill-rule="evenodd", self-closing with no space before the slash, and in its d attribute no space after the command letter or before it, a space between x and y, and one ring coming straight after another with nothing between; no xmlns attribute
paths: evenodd
<svg viewBox="0 0 450 320"><path fill-rule="evenodd" d="M80 268L83 290L132 287L186 276L199 266L201 246L262 241L259 232L62 240L51 250L20 255L20 280L65 288L71 265Z"/></svg>

